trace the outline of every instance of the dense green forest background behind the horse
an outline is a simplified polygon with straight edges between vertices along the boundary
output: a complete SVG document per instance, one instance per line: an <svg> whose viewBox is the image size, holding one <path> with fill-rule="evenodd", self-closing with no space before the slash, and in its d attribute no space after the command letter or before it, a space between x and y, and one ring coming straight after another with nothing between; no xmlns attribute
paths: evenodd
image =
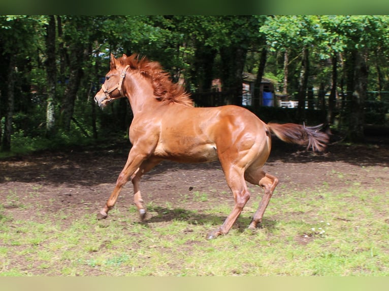
<svg viewBox="0 0 389 291"><path fill-rule="evenodd" d="M264 121L325 123L352 142L388 125L389 16L0 16L0 141L21 153L122 138L131 107L93 96L109 55L159 61L196 100L242 105ZM260 84L298 101L261 106ZM220 97L221 96L221 97ZM221 100L220 100L221 98ZM207 102L205 102L207 103ZM201 105L201 102L197 102Z"/></svg>

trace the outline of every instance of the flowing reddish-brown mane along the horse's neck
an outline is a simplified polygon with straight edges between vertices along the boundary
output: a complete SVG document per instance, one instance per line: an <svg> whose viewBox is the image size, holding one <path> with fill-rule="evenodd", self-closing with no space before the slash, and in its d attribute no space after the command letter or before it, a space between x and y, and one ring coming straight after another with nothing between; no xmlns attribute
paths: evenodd
<svg viewBox="0 0 389 291"><path fill-rule="evenodd" d="M159 62L149 61L146 57L139 58L138 54L118 58L122 65L129 65L131 69L138 70L146 78L150 78L154 88L155 98L163 103L180 103L193 107L190 94L176 83L173 83L170 74L166 72Z"/></svg>

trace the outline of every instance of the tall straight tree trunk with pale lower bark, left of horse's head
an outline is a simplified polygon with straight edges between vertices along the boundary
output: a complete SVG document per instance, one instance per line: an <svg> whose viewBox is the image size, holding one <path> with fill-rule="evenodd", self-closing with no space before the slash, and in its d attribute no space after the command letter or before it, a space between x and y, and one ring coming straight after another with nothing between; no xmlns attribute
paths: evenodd
<svg viewBox="0 0 389 291"><path fill-rule="evenodd" d="M46 73L47 73L47 108L46 108L46 136L55 133L55 87L57 68L55 63L55 18L49 16L49 24L46 27Z"/></svg>

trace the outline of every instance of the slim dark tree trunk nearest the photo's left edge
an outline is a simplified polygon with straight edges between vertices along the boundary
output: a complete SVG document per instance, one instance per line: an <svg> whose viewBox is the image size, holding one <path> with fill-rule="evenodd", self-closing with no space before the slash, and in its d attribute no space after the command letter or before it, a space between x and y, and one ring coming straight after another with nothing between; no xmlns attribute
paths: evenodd
<svg viewBox="0 0 389 291"><path fill-rule="evenodd" d="M4 126L4 134L2 141L2 150L9 152L11 150L11 135L12 135L12 118L14 115L15 104L15 60L11 55L10 63L8 67L8 80L7 80L7 113Z"/></svg>

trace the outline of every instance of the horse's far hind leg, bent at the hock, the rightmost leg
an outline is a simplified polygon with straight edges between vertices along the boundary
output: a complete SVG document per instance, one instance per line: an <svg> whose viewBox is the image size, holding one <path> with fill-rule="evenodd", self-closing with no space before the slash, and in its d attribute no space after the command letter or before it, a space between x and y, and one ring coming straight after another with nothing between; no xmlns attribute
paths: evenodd
<svg viewBox="0 0 389 291"><path fill-rule="evenodd" d="M275 176L265 173L261 168L246 170L244 177L246 181L253 185L261 186L265 191L265 194L260 202L260 206L258 206L258 209L255 211L252 221L248 227L249 229L255 229L256 225L262 222L262 217L264 216L270 198L272 198L273 191L278 184L278 179Z"/></svg>

